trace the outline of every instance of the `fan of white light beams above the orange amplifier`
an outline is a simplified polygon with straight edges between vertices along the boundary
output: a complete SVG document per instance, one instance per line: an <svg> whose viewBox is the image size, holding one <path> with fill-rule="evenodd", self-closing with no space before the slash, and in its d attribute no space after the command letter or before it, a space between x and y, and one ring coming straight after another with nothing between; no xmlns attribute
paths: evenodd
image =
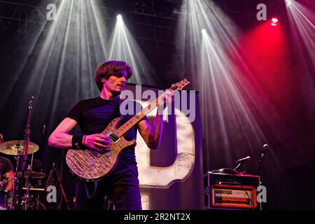
<svg viewBox="0 0 315 224"><path fill-rule="evenodd" d="M232 158L229 139L232 127L244 127L238 133L257 144L265 139L244 100L244 96L254 95L254 87L242 79L244 74L233 58L246 67L239 52L240 30L214 1L184 0L181 11L184 13L179 18L177 44L183 51L176 54L176 60L188 64L186 72L197 76L194 85L200 90L200 114L206 124L202 132L211 139L205 146L214 152L224 151L227 158ZM212 144L217 135L224 145L222 148ZM255 144L246 144L255 151Z"/></svg>

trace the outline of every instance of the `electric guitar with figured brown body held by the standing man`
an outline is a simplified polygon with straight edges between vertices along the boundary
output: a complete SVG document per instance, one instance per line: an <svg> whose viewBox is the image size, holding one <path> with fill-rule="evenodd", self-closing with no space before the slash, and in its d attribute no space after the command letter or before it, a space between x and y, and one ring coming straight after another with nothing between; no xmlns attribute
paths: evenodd
<svg viewBox="0 0 315 224"><path fill-rule="evenodd" d="M190 82L185 78L179 83L172 84L168 90L171 93L176 90L182 90L183 87L189 83ZM155 109L155 107L159 106L160 103L164 102L164 94L155 99L155 101L151 102L151 104L146 106L146 108L121 126L121 118L111 120L111 123L109 123L106 129L102 132L102 134L106 134L109 137L111 145L111 148L104 151L104 153L98 153L97 151L90 149L70 149L66 153L66 164L70 171L84 181L97 181L98 179L102 179L111 174L113 169L116 168L120 154L123 152L123 148L136 143L135 139L127 141L123 137L123 134Z"/></svg>

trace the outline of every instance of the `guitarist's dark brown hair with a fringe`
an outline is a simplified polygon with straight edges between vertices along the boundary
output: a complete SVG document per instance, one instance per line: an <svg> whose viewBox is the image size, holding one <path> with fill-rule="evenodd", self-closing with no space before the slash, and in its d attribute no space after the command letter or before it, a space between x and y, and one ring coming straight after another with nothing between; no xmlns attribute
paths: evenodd
<svg viewBox="0 0 315 224"><path fill-rule="evenodd" d="M119 73L122 70L126 70L128 80L132 76L132 68L126 62L109 61L99 66L95 73L95 83L97 83L99 91L102 91L103 89L102 78L109 79L109 76Z"/></svg>

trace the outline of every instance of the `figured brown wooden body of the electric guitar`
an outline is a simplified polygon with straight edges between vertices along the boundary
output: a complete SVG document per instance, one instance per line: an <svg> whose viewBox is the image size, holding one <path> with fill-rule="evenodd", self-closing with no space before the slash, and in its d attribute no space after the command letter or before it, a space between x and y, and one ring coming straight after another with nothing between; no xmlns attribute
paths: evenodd
<svg viewBox="0 0 315 224"><path fill-rule="evenodd" d="M121 118L115 118L109 123L102 134L110 134L118 129ZM70 149L66 153L66 164L73 174L84 181L102 179L116 168L123 148L135 144L135 140L126 141L123 137L116 142L111 141L111 148L104 154L96 153L90 149Z"/></svg>

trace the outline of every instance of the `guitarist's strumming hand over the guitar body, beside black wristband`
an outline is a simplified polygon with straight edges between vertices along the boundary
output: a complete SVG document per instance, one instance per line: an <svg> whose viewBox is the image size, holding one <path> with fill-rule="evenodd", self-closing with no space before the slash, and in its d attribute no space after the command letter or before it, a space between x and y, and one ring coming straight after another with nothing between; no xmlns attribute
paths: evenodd
<svg viewBox="0 0 315 224"><path fill-rule="evenodd" d="M87 135L83 144L99 153L104 153L104 150L111 148L109 137L105 134Z"/></svg>

